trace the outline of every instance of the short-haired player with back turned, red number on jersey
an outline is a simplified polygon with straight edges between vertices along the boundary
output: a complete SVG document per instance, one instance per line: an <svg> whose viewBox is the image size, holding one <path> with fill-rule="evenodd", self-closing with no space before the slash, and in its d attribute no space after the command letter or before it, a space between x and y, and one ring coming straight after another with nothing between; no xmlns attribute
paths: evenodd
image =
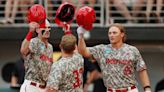
<svg viewBox="0 0 164 92"><path fill-rule="evenodd" d="M46 92L83 92L84 59L75 50L76 37L64 35L60 49L62 57L52 65Z"/></svg>

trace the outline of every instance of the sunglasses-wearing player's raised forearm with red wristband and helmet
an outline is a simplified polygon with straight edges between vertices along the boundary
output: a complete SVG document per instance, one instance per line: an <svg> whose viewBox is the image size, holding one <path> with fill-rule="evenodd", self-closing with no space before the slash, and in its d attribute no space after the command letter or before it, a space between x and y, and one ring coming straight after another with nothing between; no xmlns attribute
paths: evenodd
<svg viewBox="0 0 164 92"><path fill-rule="evenodd" d="M26 38L22 42L20 52L23 56L26 56L29 52L29 43L32 35L36 29L45 25L46 11L42 5L33 5L27 13L27 20L29 22L29 32Z"/></svg>

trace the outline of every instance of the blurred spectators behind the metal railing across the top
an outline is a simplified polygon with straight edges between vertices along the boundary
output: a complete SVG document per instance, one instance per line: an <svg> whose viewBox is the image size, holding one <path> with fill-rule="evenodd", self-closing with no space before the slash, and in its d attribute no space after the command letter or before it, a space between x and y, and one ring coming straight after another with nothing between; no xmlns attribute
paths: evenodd
<svg viewBox="0 0 164 92"><path fill-rule="evenodd" d="M112 22L120 22L116 20L122 18L125 20L123 23L163 23L163 0L0 0L0 24L17 23L19 21L16 20L20 19L23 23L27 22L28 8L36 3L47 6L48 18L53 21L57 9L55 7L63 2L72 3L76 6L76 10L81 6L88 5L98 10L100 14L101 9L97 7L100 8L101 5L104 5L104 10L105 7L109 9L108 15L113 18ZM98 12L96 12L96 15L100 16ZM17 18L17 16L20 17Z"/></svg>

